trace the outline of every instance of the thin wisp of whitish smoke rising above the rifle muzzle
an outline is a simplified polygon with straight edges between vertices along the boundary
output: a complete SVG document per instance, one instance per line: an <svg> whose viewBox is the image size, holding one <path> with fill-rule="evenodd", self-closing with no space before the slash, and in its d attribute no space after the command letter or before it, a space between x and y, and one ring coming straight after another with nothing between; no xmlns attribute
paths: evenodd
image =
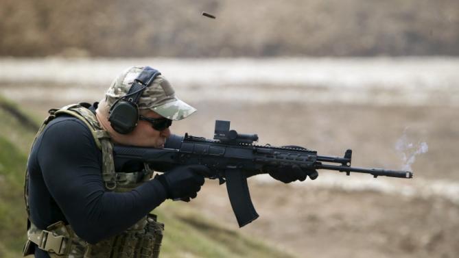
<svg viewBox="0 0 459 258"><path fill-rule="evenodd" d="M427 146L427 142L417 141L414 143L414 140L410 139L408 136L408 128L406 128L403 131L403 136L395 143L395 149L397 149L401 155L403 162L401 170L412 171L411 166L416 160L416 155L427 153L429 146Z"/></svg>

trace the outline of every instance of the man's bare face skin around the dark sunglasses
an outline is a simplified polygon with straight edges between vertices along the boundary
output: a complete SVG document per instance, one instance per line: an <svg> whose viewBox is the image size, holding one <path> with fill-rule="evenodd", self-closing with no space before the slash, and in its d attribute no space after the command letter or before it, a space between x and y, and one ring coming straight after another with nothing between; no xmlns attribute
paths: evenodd
<svg viewBox="0 0 459 258"><path fill-rule="evenodd" d="M146 118L163 118L163 116L150 109L141 109L141 115ZM134 131L126 135L126 140L128 140L128 144L134 146L164 148L166 138L170 135L171 131L169 128L157 131L152 127L150 122L139 120Z"/></svg>

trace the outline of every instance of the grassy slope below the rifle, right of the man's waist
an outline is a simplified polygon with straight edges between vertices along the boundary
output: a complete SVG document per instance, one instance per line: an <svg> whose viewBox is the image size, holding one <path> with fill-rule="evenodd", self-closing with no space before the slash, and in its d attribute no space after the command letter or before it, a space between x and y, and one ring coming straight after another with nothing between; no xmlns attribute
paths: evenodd
<svg viewBox="0 0 459 258"><path fill-rule="evenodd" d="M180 203L167 202L153 213L165 223L162 257L293 257Z"/></svg>

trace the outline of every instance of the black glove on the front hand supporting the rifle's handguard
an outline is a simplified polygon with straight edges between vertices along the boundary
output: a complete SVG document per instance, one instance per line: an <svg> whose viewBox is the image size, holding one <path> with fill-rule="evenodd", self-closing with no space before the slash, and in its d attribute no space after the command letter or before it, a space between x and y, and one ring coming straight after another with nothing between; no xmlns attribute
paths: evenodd
<svg viewBox="0 0 459 258"><path fill-rule="evenodd" d="M283 146L286 148L297 148L297 149L305 149L301 146ZM269 172L270 176L276 180L282 181L283 183L291 183L293 181L305 181L307 176L311 180L314 180L318 177L318 172L314 168L311 169L302 169L297 165L292 166L279 166L274 171Z"/></svg>

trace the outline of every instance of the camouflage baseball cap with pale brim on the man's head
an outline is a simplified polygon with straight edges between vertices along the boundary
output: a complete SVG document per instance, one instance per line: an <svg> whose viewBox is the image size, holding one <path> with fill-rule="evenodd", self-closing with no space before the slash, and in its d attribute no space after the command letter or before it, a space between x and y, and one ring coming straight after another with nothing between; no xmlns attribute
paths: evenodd
<svg viewBox="0 0 459 258"><path fill-rule="evenodd" d="M123 71L106 92L106 103L110 107L129 92L134 79L143 70L143 66L134 66ZM152 109L154 112L171 120L181 120L196 112L194 107L178 99L174 88L163 75L158 75L145 90L139 100L139 109Z"/></svg>

